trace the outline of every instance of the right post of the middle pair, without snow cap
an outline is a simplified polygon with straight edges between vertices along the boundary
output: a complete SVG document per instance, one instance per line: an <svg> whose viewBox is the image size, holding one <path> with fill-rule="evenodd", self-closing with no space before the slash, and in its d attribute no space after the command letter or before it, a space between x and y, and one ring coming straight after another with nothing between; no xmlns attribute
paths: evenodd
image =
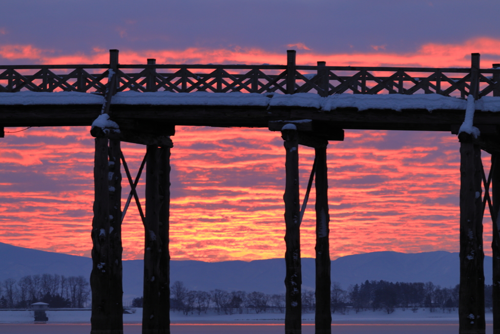
<svg viewBox="0 0 500 334"><path fill-rule="evenodd" d="M316 147L316 316L315 334L331 333L330 249L326 147Z"/></svg>

